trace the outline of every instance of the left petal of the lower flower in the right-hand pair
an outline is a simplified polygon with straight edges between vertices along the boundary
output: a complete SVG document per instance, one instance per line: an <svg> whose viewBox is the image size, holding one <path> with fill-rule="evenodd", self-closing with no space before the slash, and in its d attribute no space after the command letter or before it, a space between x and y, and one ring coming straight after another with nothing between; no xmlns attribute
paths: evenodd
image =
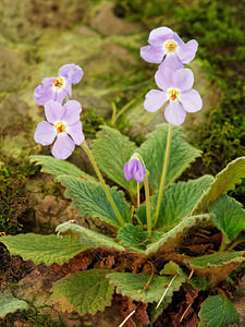
<svg viewBox="0 0 245 327"><path fill-rule="evenodd" d="M167 93L163 90L151 89L146 94L144 108L149 112L156 112L168 100Z"/></svg>

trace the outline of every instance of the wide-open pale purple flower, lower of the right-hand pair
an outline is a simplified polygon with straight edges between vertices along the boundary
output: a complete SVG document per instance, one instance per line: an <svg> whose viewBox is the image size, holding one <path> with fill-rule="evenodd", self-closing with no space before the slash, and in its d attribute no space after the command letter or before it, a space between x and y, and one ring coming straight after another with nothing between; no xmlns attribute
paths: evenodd
<svg viewBox="0 0 245 327"><path fill-rule="evenodd" d="M199 93L192 89L194 75L189 69L173 71L169 68L159 68L155 75L159 88L147 93L144 107L147 111L155 112L169 100L166 108L166 120L180 125L184 122L186 111L195 112L201 109L203 101Z"/></svg>

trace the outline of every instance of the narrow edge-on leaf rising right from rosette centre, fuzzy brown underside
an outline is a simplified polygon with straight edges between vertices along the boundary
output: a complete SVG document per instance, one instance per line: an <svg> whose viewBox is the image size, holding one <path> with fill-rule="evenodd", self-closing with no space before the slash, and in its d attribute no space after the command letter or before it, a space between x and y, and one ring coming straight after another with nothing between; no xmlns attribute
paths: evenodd
<svg viewBox="0 0 245 327"><path fill-rule="evenodd" d="M212 214L206 214L185 218L173 229L162 234L157 242L149 244L145 253L150 254L158 251L168 253L174 251L174 247L180 244L181 240L188 234L191 228L208 226L213 217Z"/></svg>

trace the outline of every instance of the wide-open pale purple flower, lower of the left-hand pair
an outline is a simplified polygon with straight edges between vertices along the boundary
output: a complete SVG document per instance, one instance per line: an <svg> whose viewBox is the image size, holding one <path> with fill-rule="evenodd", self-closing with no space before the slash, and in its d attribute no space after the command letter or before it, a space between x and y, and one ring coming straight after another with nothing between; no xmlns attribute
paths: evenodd
<svg viewBox="0 0 245 327"><path fill-rule="evenodd" d="M64 106L49 100L45 105L45 114L48 121L38 123L34 140L41 145L52 144L52 155L57 159L66 159L75 149L75 144L84 142L83 126L79 121L81 104L75 100Z"/></svg>

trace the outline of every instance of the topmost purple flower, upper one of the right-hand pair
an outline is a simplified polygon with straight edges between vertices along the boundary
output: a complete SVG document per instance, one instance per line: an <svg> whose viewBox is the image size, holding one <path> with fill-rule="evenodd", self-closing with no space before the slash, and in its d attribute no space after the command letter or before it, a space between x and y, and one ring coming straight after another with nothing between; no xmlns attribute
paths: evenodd
<svg viewBox="0 0 245 327"><path fill-rule="evenodd" d="M182 69L183 63L189 63L196 55L198 44L195 39L187 44L169 27L158 27L149 34L149 46L140 48L140 57L152 63L162 62L161 65L172 70Z"/></svg>

